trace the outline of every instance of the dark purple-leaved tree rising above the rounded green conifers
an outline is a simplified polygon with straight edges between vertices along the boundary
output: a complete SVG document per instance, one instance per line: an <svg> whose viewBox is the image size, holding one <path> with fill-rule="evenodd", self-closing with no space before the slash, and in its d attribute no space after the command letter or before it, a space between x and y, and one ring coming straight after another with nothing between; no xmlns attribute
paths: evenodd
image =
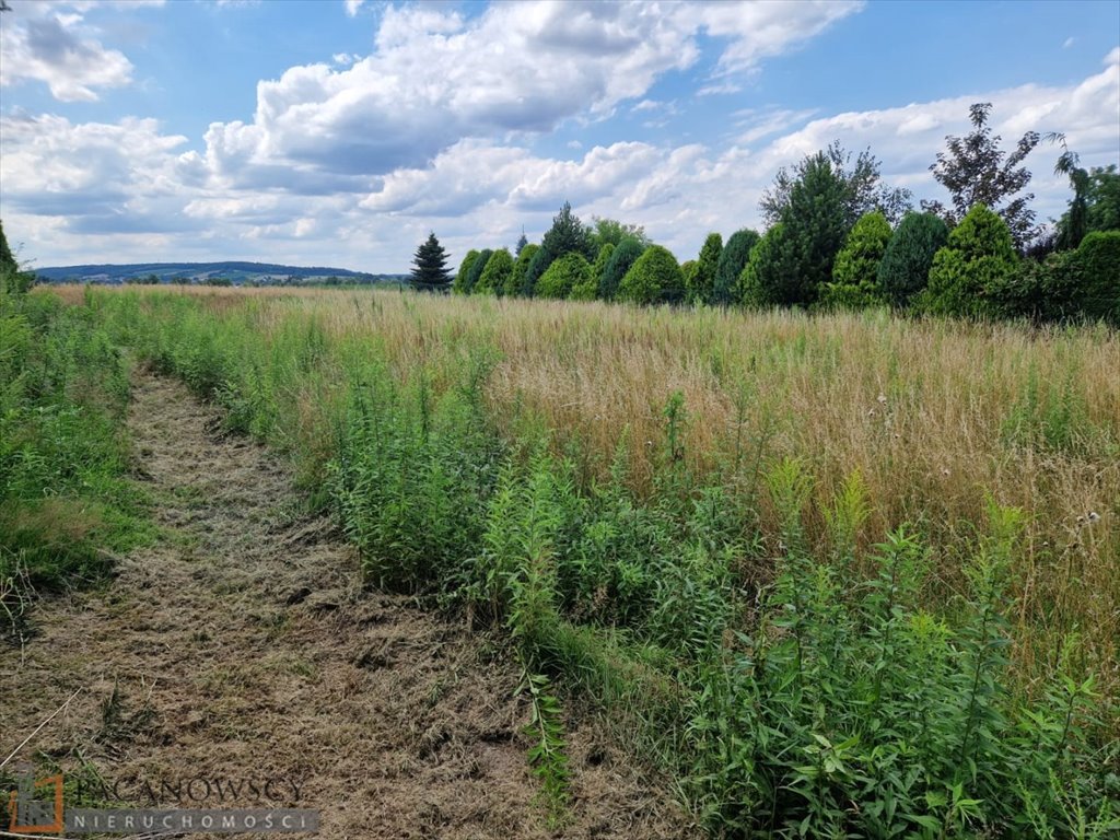
<svg viewBox="0 0 1120 840"><path fill-rule="evenodd" d="M937 152L930 166L933 177L949 190L953 207L940 202L923 202L922 209L936 213L950 227L977 205L995 211L1007 224L1015 248L1023 251L1037 233L1035 213L1030 209L1034 194L1019 195L1030 183L1030 172L1020 166L1042 139L1028 131L1008 153L999 148L1002 138L992 137L988 118L990 102L977 102L969 108L972 133L945 138L946 150Z"/></svg>

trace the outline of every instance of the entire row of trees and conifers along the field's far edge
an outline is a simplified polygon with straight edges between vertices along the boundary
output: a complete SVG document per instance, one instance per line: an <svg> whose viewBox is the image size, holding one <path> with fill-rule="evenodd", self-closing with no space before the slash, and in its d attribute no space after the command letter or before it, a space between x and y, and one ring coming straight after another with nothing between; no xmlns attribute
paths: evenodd
<svg viewBox="0 0 1120 840"><path fill-rule="evenodd" d="M948 204L913 206L883 183L870 150L839 143L781 169L759 209L764 233L704 240L683 264L642 227L592 217L564 203L538 243L470 250L452 274L435 233L417 250L416 288L632 304L800 307L888 306L933 315L1120 324L1120 174L1084 169L1062 134L1025 133L1000 148L991 105L970 109L972 131L948 137L930 169ZM1026 192L1024 160L1043 141L1062 148L1055 171L1073 197L1043 227Z"/></svg>

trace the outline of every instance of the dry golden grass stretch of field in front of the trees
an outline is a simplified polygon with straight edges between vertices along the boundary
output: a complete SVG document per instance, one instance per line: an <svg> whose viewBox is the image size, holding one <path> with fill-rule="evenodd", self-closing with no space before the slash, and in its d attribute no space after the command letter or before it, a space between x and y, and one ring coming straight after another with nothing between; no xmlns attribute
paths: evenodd
<svg viewBox="0 0 1120 840"><path fill-rule="evenodd" d="M881 314L669 311L603 304L440 298L314 289L181 289L215 311L254 301L265 334L314 318L330 336L375 342L407 379L421 362L491 344L487 399L512 430L543 418L557 447L578 439L586 470L605 469L624 433L635 487L647 488L663 445L663 408L684 394L685 458L697 470L802 459L820 508L858 470L874 507L865 544L922 523L937 587L961 585L963 552L982 529L987 494L1021 507L1016 569L1026 679L1077 628L1102 683L1120 684L1120 335L1017 325L906 321ZM438 367L439 365L437 365ZM439 383L436 383L437 388ZM321 433L321 392L304 422ZM308 437L312 437L308 435ZM1094 514L1095 519L1090 516ZM762 511L764 532L773 514Z"/></svg>

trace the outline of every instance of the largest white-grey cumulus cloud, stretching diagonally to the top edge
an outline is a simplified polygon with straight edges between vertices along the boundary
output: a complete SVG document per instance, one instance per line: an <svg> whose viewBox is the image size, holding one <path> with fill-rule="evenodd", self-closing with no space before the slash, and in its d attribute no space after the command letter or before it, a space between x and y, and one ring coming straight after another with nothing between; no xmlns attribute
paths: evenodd
<svg viewBox="0 0 1120 840"><path fill-rule="evenodd" d="M268 161L346 176L423 167L465 139L609 115L661 75L692 66L701 32L725 44L721 72L740 72L858 8L541 0L468 19L447 7L389 7L370 56L261 82L253 121L213 125L207 158L252 183L267 178L259 167Z"/></svg>

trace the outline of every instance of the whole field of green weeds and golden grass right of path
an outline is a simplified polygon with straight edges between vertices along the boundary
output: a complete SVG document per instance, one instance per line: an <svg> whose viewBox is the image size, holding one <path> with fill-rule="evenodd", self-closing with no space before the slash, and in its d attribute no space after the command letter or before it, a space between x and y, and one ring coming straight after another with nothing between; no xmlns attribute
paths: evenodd
<svg viewBox="0 0 1120 840"><path fill-rule="evenodd" d="M715 831L1116 828L1117 332L65 293L290 452L372 582L632 716ZM562 801L556 727L533 760Z"/></svg>

